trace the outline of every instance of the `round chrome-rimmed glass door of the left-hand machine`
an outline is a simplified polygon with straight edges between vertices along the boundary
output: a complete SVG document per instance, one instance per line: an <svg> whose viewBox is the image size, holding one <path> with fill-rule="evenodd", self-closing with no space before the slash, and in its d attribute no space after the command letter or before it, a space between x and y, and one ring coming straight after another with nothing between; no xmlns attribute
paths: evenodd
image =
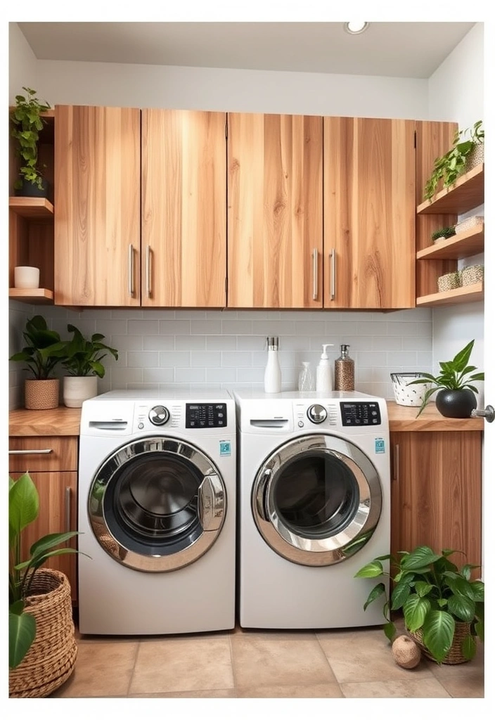
<svg viewBox="0 0 495 720"><path fill-rule="evenodd" d="M197 560L217 539L227 496L212 461L171 438L123 445L91 483L88 515L99 544L118 562L167 572Z"/></svg>

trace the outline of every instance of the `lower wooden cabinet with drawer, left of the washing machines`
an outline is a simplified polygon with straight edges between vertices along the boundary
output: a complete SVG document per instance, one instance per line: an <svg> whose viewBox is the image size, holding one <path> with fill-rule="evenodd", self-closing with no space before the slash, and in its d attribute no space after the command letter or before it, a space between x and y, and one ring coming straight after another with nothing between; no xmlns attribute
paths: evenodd
<svg viewBox="0 0 495 720"><path fill-rule="evenodd" d="M9 438L9 474L17 480L29 472L40 495L40 514L35 523L23 531L23 559L29 547L41 536L77 529L77 462L76 437ZM71 541L77 546L77 539ZM43 567L65 572L71 583L73 603L77 601L76 554L50 558Z"/></svg>

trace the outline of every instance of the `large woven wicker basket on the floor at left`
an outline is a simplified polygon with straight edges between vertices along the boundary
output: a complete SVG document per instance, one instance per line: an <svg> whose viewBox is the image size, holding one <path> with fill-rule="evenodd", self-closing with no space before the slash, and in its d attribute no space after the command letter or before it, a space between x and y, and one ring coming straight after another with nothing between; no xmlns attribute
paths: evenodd
<svg viewBox="0 0 495 720"><path fill-rule="evenodd" d="M24 660L9 670L10 698L45 698L65 683L77 655L71 585L58 570L37 570L26 609L36 618L36 638Z"/></svg>

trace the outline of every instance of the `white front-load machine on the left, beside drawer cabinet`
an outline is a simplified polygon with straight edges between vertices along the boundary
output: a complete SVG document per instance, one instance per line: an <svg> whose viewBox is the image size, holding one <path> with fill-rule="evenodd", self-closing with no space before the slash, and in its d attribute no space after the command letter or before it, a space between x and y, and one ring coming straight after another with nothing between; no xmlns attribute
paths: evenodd
<svg viewBox="0 0 495 720"><path fill-rule="evenodd" d="M81 633L235 626L235 430L226 391L112 391L83 402Z"/></svg>

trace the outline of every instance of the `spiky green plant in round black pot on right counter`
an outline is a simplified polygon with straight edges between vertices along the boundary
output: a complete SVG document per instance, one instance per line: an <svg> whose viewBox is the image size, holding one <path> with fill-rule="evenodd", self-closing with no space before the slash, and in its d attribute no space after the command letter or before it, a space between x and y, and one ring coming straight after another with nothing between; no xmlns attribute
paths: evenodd
<svg viewBox="0 0 495 720"><path fill-rule="evenodd" d="M469 418L471 416L471 411L476 408L474 393L478 392L478 388L473 385L473 382L485 379L484 372L473 373L477 368L474 365L468 365L473 345L474 340L471 340L454 356L453 360L440 362L441 372L437 377L427 372L421 372L419 374L422 377L408 383L409 385L418 383L433 385L424 393L418 415L422 413L432 394L440 388L435 397L435 405L441 415L445 418Z"/></svg>

